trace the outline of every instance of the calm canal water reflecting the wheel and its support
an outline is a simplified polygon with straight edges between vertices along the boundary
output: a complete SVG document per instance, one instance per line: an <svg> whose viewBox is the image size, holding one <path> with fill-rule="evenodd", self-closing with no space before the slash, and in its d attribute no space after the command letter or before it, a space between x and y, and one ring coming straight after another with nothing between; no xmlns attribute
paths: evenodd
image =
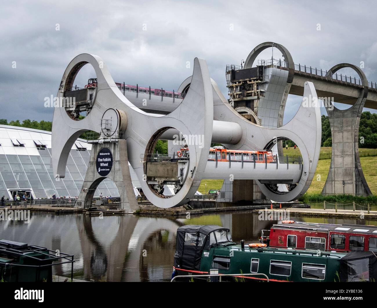
<svg viewBox="0 0 377 308"><path fill-rule="evenodd" d="M224 212L185 217L135 215L89 217L31 213L30 222L0 221L0 238L47 247L75 256L74 278L86 281L170 281L176 230L185 224L216 224L231 230L233 241L257 241L277 221L257 213ZM315 223L377 225L374 220L290 217ZM70 265L54 274L70 277Z"/></svg>

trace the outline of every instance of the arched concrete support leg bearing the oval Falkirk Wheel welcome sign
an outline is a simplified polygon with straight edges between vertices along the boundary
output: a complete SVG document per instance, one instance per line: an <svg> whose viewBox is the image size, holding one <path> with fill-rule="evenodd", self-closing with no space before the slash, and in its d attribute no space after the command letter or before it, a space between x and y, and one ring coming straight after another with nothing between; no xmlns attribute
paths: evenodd
<svg viewBox="0 0 377 308"><path fill-rule="evenodd" d="M98 173L96 166L98 152L103 148L110 149L113 156L112 168L106 176L101 176ZM115 183L116 188L118 188L121 203L120 209L135 211L139 208L132 186L126 140L93 143L89 165L83 184L85 191L83 192L81 189L78 201L84 201L84 204L87 204L88 201L92 201L98 184L100 184L105 178L112 180Z"/></svg>

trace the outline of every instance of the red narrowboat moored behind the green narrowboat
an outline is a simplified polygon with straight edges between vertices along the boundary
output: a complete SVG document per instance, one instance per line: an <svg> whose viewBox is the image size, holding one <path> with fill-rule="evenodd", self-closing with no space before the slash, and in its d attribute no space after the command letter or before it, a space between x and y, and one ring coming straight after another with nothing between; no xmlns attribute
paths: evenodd
<svg viewBox="0 0 377 308"><path fill-rule="evenodd" d="M261 241L276 247L377 252L377 226L289 220L262 230Z"/></svg>

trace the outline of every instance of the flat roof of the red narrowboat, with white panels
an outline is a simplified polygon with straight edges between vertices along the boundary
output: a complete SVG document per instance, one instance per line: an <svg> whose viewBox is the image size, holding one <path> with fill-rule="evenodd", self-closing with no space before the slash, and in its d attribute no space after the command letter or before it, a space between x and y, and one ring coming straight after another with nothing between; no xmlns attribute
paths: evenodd
<svg viewBox="0 0 377 308"><path fill-rule="evenodd" d="M377 235L377 226L365 226L359 224L320 224L320 223L305 223L296 221L292 224L274 224L272 228L275 229L293 229L293 230L308 230L308 231L337 231L348 233L369 233Z"/></svg>

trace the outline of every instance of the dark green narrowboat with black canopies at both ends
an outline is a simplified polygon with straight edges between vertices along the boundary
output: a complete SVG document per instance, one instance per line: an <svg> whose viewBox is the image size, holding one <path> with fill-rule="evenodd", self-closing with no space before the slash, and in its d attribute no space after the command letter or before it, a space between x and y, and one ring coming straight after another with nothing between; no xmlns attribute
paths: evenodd
<svg viewBox="0 0 377 308"><path fill-rule="evenodd" d="M310 249L255 248L233 242L230 230L220 226L179 227L173 276L265 274L275 282L377 281L377 256L373 252L328 252ZM225 277L225 276L224 276ZM228 278L228 277L227 277ZM242 276L247 281L267 280ZM231 278L234 279L234 278Z"/></svg>

